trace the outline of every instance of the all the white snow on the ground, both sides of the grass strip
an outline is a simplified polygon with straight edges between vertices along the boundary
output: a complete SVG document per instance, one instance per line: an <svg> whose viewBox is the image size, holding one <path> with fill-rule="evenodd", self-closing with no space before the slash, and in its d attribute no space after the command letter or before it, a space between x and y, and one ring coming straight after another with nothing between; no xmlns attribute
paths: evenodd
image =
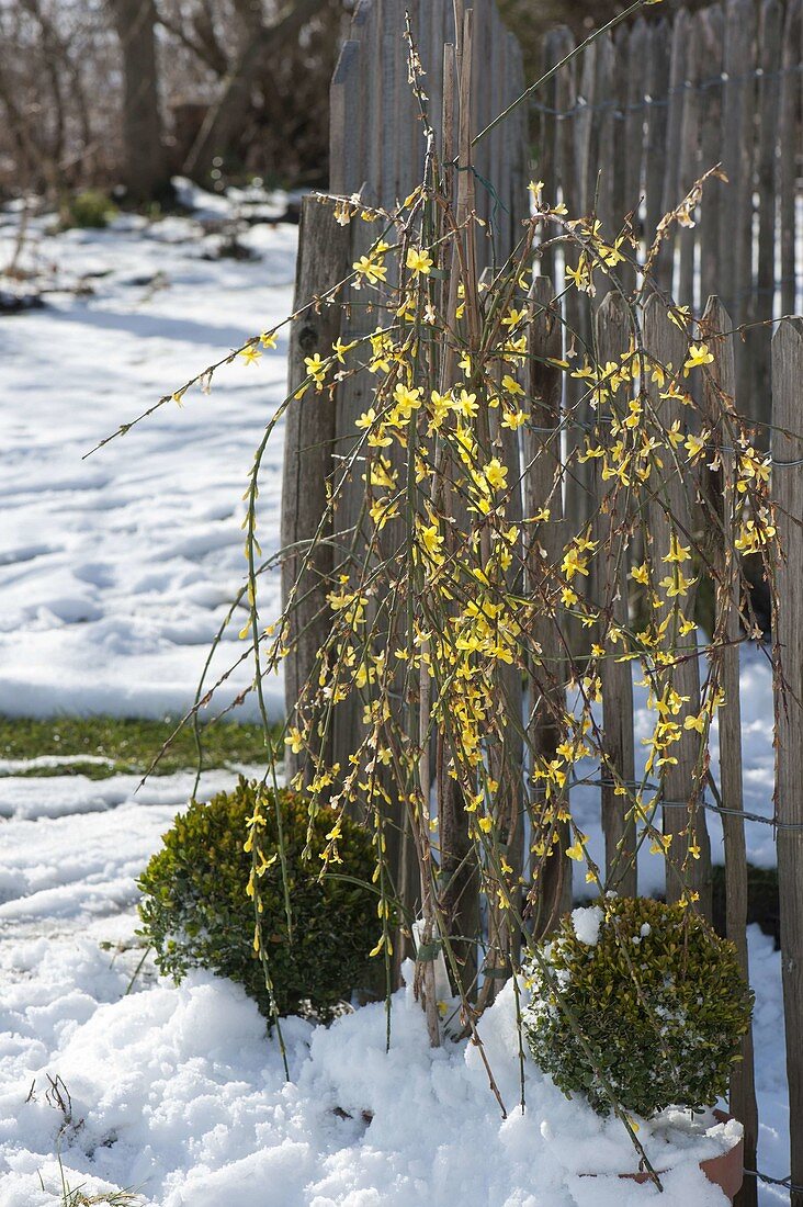
<svg viewBox="0 0 803 1207"><path fill-rule="evenodd" d="M225 216L225 203L202 216L215 212ZM12 233L0 227L0 261ZM222 369L209 397L196 390L182 409L169 404L82 456L289 311L295 229L252 226L243 237L261 256L252 263L214 258L220 238L197 218L124 218L106 232L42 238L28 253L63 288L47 309L0 320L0 711L161 716L192 702L242 581L239 500L284 392L286 348L257 367ZM92 293L68 288L80 279ZM280 457L279 438L261 491L266 555L278 542ZM239 653L239 628L219 669ZM757 654L743 674L746 807L767 815L769 674ZM249 677L243 669L228 694ZM279 687L269 696L277 715ZM580 1177L630 1168L629 1141L619 1125L566 1104L531 1065L526 1112L516 1109L510 995L483 1020L506 1120L477 1050L431 1053L405 992L389 1056L382 1007L328 1030L289 1021L286 1084L239 989L199 975L176 990L147 961L134 976L134 879L192 777L134 794L135 777L18 770L4 766L0 779L0 1207L60 1202L59 1154L72 1188L129 1188L153 1207L638 1207L654 1197L650 1186ZM229 780L210 772L202 791ZM599 857L597 799L595 789L575 793ZM721 857L716 818L711 832ZM747 835L751 859L772 864L769 827L749 824ZM642 887L658 887L659 874L659 859L645 856ZM760 1162L782 1177L779 956L756 928L751 960ZM60 1079L69 1118L48 1075ZM659 1160L659 1138L642 1135ZM667 1178L665 1207L722 1202L696 1160L688 1150ZM761 1190L763 1207L786 1199Z"/></svg>

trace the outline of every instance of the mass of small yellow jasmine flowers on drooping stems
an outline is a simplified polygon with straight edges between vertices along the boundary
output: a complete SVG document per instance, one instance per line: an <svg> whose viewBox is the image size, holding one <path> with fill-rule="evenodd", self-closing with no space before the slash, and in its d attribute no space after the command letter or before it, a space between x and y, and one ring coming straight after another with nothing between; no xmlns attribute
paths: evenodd
<svg viewBox="0 0 803 1207"><path fill-rule="evenodd" d="M542 182L530 192L533 222L561 223L575 249L566 256L571 288L593 296L600 279L625 260L638 267L636 240L627 226L607 235L598 220L565 221L565 206L543 200ZM423 212L426 204L426 189L417 191L405 214L411 206ZM343 202L341 212L356 212L356 203ZM438 792L444 777L459 786L469 836L482 850L478 865L494 886L489 900L507 910L511 877L518 874L507 855L511 792L529 810L536 880L545 861L563 852L584 862L587 879L603 885L588 835L569 805L584 760L613 776L639 841L646 839L662 857L680 858L671 850L673 834L653 823L661 792L650 797L646 787L621 782L606 762L599 717L605 665L640 663L652 717L644 739L645 783L677 765L685 739L705 746L725 704L716 678L706 681L700 699L676 686L679 661L697 652L693 593L708 576L705 553L698 531L673 514L667 483L691 483L697 505L704 474L721 472L729 457L733 555L766 556L775 537L766 502L770 463L738 428L728 451L717 443L722 437L710 414L704 422L692 421L697 391L694 379L710 379L716 348L693 338L698 328L682 308L670 315L688 340L675 365L647 355L638 325L629 345L605 361L590 350L578 357L569 339L565 354L546 363L577 383L571 389L580 390L590 421L577 436L574 414L565 412L563 447L559 431L549 437L530 426L536 408L545 412L545 400L531 389L534 305L525 278L531 266L514 262L481 287L450 245L458 235L431 234L437 222L426 212L433 226L423 222L411 233L407 220L400 220L396 234L385 231L354 261L351 285L372 291L374 330L350 343L337 339L331 350L304 361L302 391L334 389L354 373L368 383L353 448L338 467L338 477L360 480L363 492L356 512L350 506L350 552L327 594L331 630L318 681L299 700L285 741L308 764L297 787L310 798L326 793L336 809L372 812L378 876L382 818L391 804L402 803L427 844L438 833L429 783L420 782L430 746L437 746ZM458 282L449 279L450 263ZM688 408L688 422L677 418L679 403ZM523 491L530 468L524 448L530 457L536 450L530 465L548 462L553 473L551 485L540 474L546 485L535 501ZM572 532L559 519L563 496L586 465L584 480L590 476L594 483L593 518L586 514ZM330 517L336 533L337 489L332 485ZM613 581L627 581L630 593L618 608ZM549 649L542 648L545 622L554 630ZM280 632L277 645L284 640ZM553 739L546 752L534 744L531 722L506 706L506 676L519 682L528 676L533 712L548 713ZM322 739L350 699L359 704L354 748L344 766L327 766ZM420 717L413 723L415 710ZM519 763L511 772L506 759L516 750ZM334 824L326 861L337 859L337 840ZM689 829L685 858L698 857ZM685 899L692 903L694 893L688 890ZM384 896L380 906L386 922ZM385 926L374 954L386 955L390 941Z"/></svg>

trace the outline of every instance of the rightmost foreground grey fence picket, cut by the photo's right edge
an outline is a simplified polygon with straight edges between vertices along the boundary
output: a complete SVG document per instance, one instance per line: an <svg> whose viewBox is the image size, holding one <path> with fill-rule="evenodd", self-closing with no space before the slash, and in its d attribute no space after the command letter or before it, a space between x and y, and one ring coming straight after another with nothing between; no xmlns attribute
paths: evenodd
<svg viewBox="0 0 803 1207"><path fill-rule="evenodd" d="M776 566L775 816L786 1020L792 1183L803 1185L803 319L773 338L773 498L782 558ZM796 462L790 465L789 462ZM784 828L796 827L796 828ZM792 1191L792 1207L803 1193Z"/></svg>

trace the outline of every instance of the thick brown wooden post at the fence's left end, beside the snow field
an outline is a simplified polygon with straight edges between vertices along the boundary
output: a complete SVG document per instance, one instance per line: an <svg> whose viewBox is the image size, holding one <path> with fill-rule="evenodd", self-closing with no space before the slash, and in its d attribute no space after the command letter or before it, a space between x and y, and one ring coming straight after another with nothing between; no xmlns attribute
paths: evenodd
<svg viewBox="0 0 803 1207"><path fill-rule="evenodd" d="M306 197L301 210L296 293L293 310L307 305L342 281L348 270L349 235L333 217L331 206ZM341 305L310 307L290 327L287 391L298 389L307 374L304 357L319 352L326 357L341 331ZM331 525L321 529L326 513L326 482L332 471L336 401L332 390L318 393L312 386L306 397L287 409L285 419L285 461L281 485L281 548L296 549L281 562L281 606L285 608L296 576L307 565L296 588L296 606L290 619L285 659L285 709L292 717L299 693L310 678L330 630L326 604L332 573L332 547L321 544L308 554L315 536L331 536ZM290 748L285 756L287 780L301 760Z"/></svg>

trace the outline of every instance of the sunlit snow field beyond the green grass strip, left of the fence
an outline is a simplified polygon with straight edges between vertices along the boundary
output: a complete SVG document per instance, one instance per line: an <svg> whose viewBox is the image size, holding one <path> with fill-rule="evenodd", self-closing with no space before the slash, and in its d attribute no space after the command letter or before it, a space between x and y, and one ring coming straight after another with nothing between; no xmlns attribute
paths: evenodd
<svg viewBox="0 0 803 1207"><path fill-rule="evenodd" d="M0 264L13 233L0 228ZM221 237L192 218L124 217L35 238L23 258L57 290L92 293L53 292L47 309L0 325L0 711L158 717L192 704L242 584L240 496L284 393L285 342L82 457L290 313L296 229L260 223L242 241L261 258L206 258ZM279 432L261 494L266 556L280 463ZM217 670L239 654L240 628ZM249 678L235 676L221 701ZM275 689L270 702L279 709Z"/></svg>

